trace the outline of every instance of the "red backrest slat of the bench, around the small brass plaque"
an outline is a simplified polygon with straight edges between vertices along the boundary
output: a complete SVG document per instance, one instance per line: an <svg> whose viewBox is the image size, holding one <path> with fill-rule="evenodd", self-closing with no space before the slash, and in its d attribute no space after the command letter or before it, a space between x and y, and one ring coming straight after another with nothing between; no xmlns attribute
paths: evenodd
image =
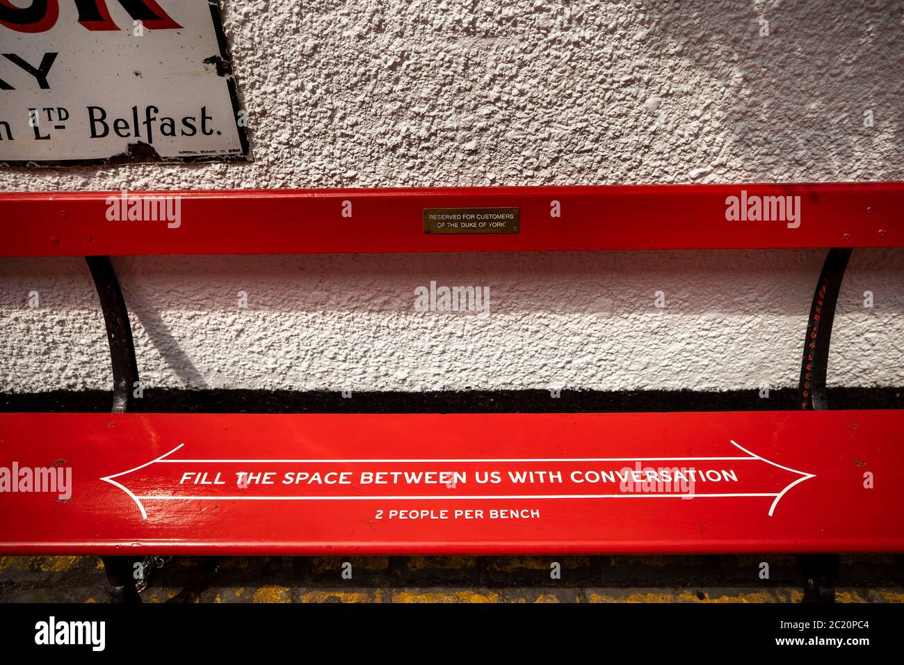
<svg viewBox="0 0 904 665"><path fill-rule="evenodd" d="M178 223L109 219L134 199L158 196L178 198ZM904 183L130 192L123 198L121 192L0 195L0 255L904 245ZM169 203L174 212L175 200ZM518 208L519 233L425 233L426 208L486 207Z"/></svg>

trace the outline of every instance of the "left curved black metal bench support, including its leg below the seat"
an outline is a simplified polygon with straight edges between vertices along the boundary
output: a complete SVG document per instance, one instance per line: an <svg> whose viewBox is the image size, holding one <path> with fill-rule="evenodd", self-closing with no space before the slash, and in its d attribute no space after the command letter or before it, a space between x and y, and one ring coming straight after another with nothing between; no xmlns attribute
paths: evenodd
<svg viewBox="0 0 904 665"><path fill-rule="evenodd" d="M128 320L126 300L119 289L119 280L107 256L86 256L91 278L98 290L100 309L104 313L107 326L107 340L110 360L113 365L113 409L112 413L141 411L140 401L135 397L138 384L138 363L135 343L132 340L132 326ZM104 571L110 584L110 603L141 603L135 585L135 564L141 558L132 556L101 556Z"/></svg>

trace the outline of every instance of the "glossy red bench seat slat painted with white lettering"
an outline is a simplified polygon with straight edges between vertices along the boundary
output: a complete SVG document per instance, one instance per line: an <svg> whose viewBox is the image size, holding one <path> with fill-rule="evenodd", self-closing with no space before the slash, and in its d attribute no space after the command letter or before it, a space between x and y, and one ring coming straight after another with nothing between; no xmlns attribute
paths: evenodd
<svg viewBox="0 0 904 665"><path fill-rule="evenodd" d="M901 411L0 414L2 554L904 552L902 508Z"/></svg>

